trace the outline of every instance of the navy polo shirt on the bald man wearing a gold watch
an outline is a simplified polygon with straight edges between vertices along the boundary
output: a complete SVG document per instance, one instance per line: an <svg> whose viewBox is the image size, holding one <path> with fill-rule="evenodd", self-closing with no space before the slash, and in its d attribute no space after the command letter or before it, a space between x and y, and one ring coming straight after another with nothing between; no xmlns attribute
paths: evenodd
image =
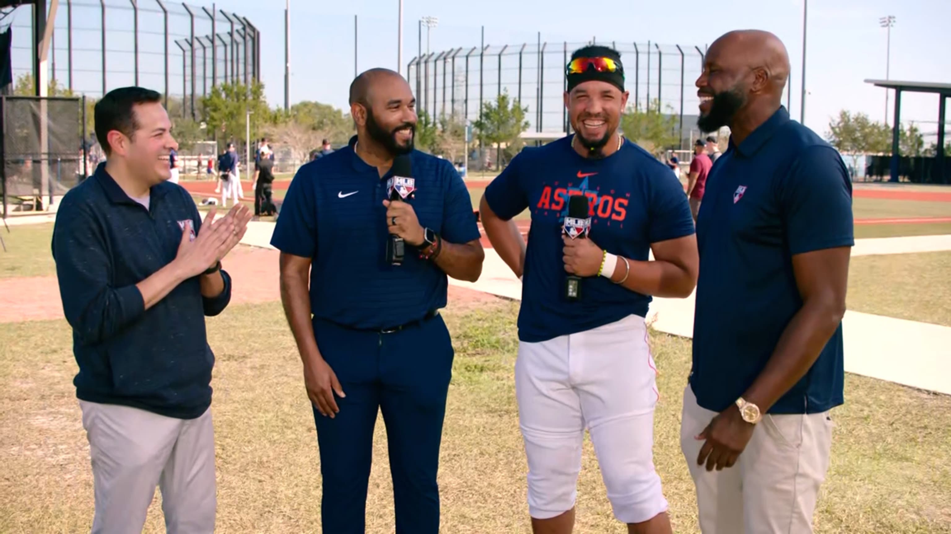
<svg viewBox="0 0 951 534"><path fill-rule="evenodd" d="M697 218L700 277L690 385L722 411L763 371L803 305L792 257L852 246L852 184L839 152L781 107L717 159ZM843 403L842 325L769 413Z"/></svg>

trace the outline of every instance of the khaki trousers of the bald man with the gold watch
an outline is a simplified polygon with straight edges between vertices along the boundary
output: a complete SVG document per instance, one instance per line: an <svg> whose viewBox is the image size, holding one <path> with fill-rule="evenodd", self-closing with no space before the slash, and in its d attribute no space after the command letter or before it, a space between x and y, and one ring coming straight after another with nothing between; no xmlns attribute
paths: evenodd
<svg viewBox="0 0 951 534"><path fill-rule="evenodd" d="M697 465L704 442L694 436L716 412L684 391L680 445L697 491L704 534L802 534L812 532L812 513L825 480L833 423L827 411L769 415L757 423L733 467L708 471Z"/></svg>

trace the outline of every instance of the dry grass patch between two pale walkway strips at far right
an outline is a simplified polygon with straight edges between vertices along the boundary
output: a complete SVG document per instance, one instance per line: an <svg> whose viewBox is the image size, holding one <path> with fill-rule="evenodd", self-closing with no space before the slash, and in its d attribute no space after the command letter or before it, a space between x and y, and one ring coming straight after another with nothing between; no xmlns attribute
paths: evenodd
<svg viewBox="0 0 951 534"><path fill-rule="evenodd" d="M949 274L951 251L853 257L846 307L951 326Z"/></svg>

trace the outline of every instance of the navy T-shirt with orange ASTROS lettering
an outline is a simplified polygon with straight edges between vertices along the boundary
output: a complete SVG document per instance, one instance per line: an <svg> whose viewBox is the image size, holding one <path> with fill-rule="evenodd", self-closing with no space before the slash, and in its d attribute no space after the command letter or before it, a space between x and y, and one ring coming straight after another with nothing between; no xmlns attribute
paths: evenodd
<svg viewBox="0 0 951 534"><path fill-rule="evenodd" d="M511 219L526 208L532 214L518 313L522 341L545 341L648 313L650 296L606 277L582 278L582 297L565 296L562 225L574 195L588 197L589 238L611 254L647 261L651 243L694 233L684 186L637 144L625 140L602 160L578 154L572 136L526 147L485 190L499 218Z"/></svg>

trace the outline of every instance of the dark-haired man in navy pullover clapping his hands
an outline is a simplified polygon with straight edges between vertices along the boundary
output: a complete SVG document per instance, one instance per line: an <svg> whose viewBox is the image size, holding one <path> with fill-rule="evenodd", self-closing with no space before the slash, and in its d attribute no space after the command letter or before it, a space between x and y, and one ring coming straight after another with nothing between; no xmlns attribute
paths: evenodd
<svg viewBox="0 0 951 534"><path fill-rule="evenodd" d="M221 259L250 212L200 219L170 176L178 148L161 95L107 93L95 107L107 162L63 198L53 229L73 383L92 459L92 532L140 532L160 486L168 532L211 532L215 450L204 315L222 313Z"/></svg>

